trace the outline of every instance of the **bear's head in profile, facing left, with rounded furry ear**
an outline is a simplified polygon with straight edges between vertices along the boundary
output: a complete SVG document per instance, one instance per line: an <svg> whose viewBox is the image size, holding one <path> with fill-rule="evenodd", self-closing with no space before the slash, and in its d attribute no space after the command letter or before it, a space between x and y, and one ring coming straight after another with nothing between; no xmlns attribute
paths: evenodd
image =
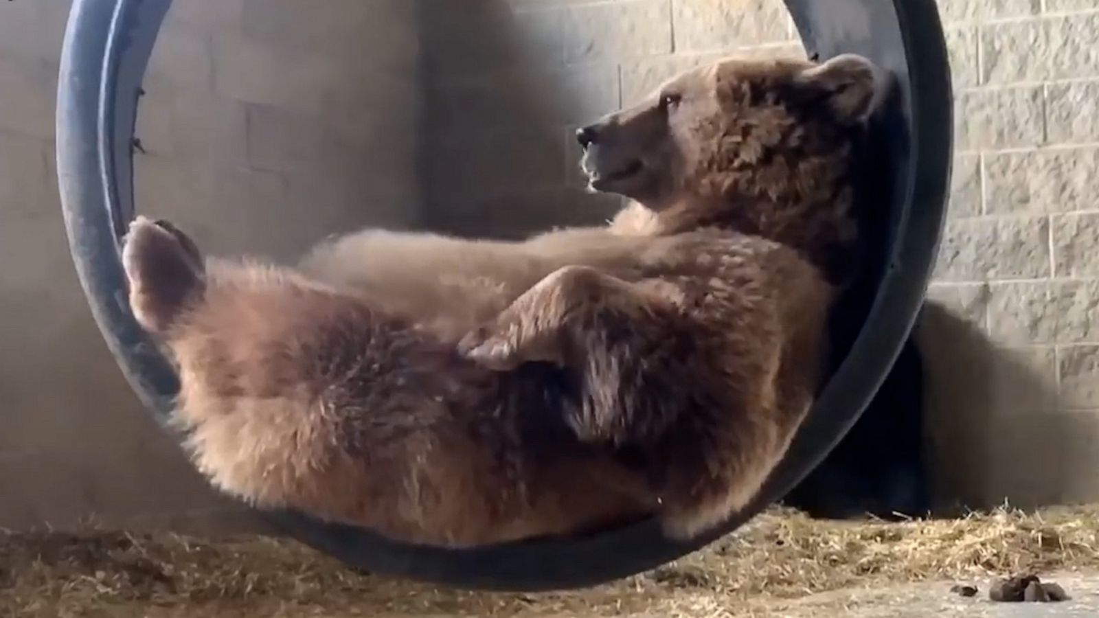
<svg viewBox="0 0 1099 618"><path fill-rule="evenodd" d="M852 167L879 92L874 65L728 58L577 131L592 190L803 251L825 271L852 244Z"/></svg>

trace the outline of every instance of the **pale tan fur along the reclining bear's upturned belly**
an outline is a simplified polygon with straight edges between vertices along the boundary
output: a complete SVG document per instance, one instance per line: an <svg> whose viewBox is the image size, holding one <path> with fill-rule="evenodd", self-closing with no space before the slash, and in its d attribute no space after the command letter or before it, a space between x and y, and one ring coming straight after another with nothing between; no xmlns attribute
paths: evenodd
<svg viewBox="0 0 1099 618"><path fill-rule="evenodd" d="M369 295L378 308L457 341L557 268L577 261L630 268L641 241L630 228L634 221L624 214L619 220L524 242L364 230L321 243L298 269Z"/></svg>

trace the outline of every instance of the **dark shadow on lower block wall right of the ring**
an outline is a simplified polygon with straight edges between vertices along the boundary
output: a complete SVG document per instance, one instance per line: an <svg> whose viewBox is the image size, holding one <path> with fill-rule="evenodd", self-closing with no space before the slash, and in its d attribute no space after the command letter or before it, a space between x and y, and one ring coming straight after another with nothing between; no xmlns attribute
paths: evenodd
<svg viewBox="0 0 1099 618"><path fill-rule="evenodd" d="M1073 504L1094 492L1096 420L1062 410L1053 347L995 345L973 320L934 302L917 338L942 515L1004 503L1024 509Z"/></svg>

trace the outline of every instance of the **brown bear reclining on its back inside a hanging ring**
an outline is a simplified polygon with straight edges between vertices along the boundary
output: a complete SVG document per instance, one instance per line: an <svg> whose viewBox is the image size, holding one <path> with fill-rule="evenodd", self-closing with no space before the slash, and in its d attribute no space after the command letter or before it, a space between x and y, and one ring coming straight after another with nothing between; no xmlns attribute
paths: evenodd
<svg viewBox="0 0 1099 618"><path fill-rule="evenodd" d="M295 271L138 219L131 307L198 467L256 505L449 547L651 515L689 537L819 387L875 90L850 55L688 71L578 132L592 189L636 203L525 243L368 234Z"/></svg>

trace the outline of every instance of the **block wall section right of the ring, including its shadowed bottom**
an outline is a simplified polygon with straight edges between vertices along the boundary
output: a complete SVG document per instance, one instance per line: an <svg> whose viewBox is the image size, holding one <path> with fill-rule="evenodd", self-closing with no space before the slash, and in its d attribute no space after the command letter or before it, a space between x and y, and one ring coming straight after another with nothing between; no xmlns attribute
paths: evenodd
<svg viewBox="0 0 1099 618"><path fill-rule="evenodd" d="M954 195L921 338L944 496L1099 498L1099 2L943 0Z"/></svg>

